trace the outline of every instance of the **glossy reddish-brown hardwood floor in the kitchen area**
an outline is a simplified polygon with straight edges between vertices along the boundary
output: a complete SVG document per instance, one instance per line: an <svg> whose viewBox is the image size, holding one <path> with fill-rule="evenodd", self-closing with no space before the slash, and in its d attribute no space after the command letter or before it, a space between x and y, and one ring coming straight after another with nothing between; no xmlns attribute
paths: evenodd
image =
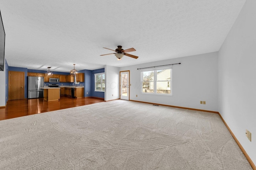
<svg viewBox="0 0 256 170"><path fill-rule="evenodd" d="M11 119L47 111L66 109L70 107L83 106L104 102L100 98L70 98L60 96L60 101L46 102L43 98L24 99L24 100L9 100L6 107L0 108L0 120Z"/></svg>

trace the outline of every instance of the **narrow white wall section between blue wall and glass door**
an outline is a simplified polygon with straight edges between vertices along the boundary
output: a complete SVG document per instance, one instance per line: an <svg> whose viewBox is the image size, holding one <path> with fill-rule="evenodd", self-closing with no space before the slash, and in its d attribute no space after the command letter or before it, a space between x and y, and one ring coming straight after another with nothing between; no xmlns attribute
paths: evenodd
<svg viewBox="0 0 256 170"><path fill-rule="evenodd" d="M119 99L119 67L106 65L105 76L105 101Z"/></svg>

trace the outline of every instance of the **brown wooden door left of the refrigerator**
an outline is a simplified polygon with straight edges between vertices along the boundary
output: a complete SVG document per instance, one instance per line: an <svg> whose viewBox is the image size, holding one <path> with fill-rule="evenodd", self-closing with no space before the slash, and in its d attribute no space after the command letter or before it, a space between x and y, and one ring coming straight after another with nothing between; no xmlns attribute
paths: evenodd
<svg viewBox="0 0 256 170"><path fill-rule="evenodd" d="M24 99L24 72L9 71L9 100Z"/></svg>

